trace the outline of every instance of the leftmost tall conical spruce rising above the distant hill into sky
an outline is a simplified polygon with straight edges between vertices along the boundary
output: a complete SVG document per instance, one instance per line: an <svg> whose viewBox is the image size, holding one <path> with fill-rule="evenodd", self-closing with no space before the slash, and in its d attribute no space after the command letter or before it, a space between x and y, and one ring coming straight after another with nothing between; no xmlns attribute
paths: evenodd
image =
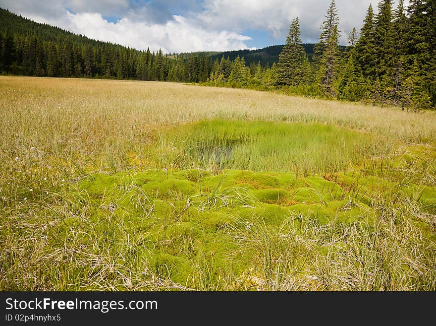
<svg viewBox="0 0 436 326"><path fill-rule="evenodd" d="M297 17L292 20L286 44L278 57L277 83L296 86L304 82L307 73L304 66L305 57L306 52L301 46L300 24Z"/></svg>

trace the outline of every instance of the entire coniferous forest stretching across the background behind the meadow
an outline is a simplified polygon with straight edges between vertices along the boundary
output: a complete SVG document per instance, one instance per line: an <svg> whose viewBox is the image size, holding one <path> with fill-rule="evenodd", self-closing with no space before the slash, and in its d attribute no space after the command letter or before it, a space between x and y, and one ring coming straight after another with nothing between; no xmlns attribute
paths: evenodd
<svg viewBox="0 0 436 326"><path fill-rule="evenodd" d="M377 12L377 13L376 13ZM163 54L91 40L0 9L3 74L195 82L211 86L280 90L407 110L436 107L436 1L382 0L368 8L360 32L339 46L332 0L320 39L308 55L298 17L290 24L278 62L234 60L217 53Z"/></svg>

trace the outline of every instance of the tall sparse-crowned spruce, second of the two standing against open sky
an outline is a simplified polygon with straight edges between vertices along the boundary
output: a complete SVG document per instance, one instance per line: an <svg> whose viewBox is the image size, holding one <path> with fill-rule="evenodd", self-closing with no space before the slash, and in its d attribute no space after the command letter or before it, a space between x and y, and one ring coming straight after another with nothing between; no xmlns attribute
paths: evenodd
<svg viewBox="0 0 436 326"><path fill-rule="evenodd" d="M316 66L320 64L321 58L323 57L324 51L327 47L328 39L332 35L333 30L336 30L338 38L340 37L338 30L339 16L337 14L336 3L334 0L331 0L325 18L326 19L323 21L323 24L320 27L322 30L320 34L320 41L314 47L313 61L315 62Z"/></svg>

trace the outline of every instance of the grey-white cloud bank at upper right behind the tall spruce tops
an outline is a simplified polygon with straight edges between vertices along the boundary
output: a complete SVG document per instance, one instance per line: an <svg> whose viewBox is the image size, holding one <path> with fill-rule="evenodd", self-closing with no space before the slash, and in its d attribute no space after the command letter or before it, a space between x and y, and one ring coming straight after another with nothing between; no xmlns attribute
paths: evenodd
<svg viewBox="0 0 436 326"><path fill-rule="evenodd" d="M330 2L331 0L204 0L205 10L194 15L198 15L203 25L216 29L231 26L237 32L247 28L266 30L281 42L288 32L290 21L298 16L303 41L317 42ZM335 2L342 34L341 42L345 43L353 27L361 28L369 4L372 3L377 11L379 0Z"/></svg>

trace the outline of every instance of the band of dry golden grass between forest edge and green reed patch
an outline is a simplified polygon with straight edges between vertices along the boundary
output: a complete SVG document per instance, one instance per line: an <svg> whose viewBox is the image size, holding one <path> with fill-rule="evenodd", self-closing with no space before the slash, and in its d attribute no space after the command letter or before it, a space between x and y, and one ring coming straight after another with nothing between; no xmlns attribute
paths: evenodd
<svg viewBox="0 0 436 326"><path fill-rule="evenodd" d="M107 140L141 141L165 124L212 118L318 121L413 142L436 134L435 112L177 83L3 76L0 108L2 154L69 142L93 151Z"/></svg>

